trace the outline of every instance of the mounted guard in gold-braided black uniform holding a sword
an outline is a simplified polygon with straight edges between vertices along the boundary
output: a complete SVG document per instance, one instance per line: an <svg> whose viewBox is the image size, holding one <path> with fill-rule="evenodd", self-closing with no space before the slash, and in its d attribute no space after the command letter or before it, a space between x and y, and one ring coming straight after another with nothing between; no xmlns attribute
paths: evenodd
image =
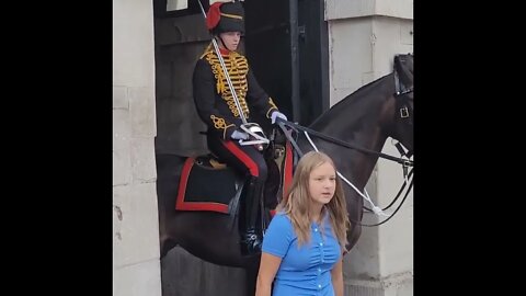
<svg viewBox="0 0 526 296"><path fill-rule="evenodd" d="M236 52L244 34L242 4L215 2L206 14L206 26L213 39L194 68L194 101L201 119L208 126L208 149L249 180L241 251L255 254L262 243L255 224L267 179L263 150L268 139L258 123L250 122L251 111L272 124L277 117L287 117L259 86L247 57Z"/></svg>

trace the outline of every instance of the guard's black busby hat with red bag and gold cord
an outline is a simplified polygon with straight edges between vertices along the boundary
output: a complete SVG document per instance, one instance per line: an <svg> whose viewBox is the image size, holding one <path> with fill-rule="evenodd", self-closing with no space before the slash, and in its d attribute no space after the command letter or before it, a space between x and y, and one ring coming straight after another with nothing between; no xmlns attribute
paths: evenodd
<svg viewBox="0 0 526 296"><path fill-rule="evenodd" d="M244 33L244 10L239 1L215 2L206 14L206 27L213 34L224 32Z"/></svg>

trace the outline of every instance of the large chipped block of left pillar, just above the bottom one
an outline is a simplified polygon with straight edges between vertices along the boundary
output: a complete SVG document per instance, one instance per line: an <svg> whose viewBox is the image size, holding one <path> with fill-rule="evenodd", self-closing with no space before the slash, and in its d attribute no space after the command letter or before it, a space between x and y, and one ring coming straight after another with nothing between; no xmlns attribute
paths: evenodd
<svg viewBox="0 0 526 296"><path fill-rule="evenodd" d="M159 260L156 183L113 187L114 269Z"/></svg>

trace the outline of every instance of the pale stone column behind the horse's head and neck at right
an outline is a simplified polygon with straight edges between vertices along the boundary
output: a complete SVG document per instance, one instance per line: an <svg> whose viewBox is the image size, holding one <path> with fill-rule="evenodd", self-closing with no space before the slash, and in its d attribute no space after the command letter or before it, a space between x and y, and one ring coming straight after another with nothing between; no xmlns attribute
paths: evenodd
<svg viewBox="0 0 526 296"><path fill-rule="evenodd" d="M392 71L396 54L413 52L412 0L325 0L329 27L330 100L335 104L359 87ZM382 152L398 156L390 139ZM386 206L402 184L399 164L380 159L367 191ZM413 295L413 196L387 224L364 227L344 260L345 295ZM380 218L382 219L382 218ZM364 223L379 221L365 214Z"/></svg>

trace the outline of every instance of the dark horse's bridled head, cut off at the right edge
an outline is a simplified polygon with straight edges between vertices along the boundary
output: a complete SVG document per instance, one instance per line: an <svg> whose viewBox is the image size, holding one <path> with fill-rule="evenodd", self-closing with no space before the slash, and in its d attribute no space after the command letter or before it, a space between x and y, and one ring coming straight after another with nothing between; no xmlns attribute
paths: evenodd
<svg viewBox="0 0 526 296"><path fill-rule="evenodd" d="M413 150L413 55L395 56L396 111L392 138Z"/></svg>

